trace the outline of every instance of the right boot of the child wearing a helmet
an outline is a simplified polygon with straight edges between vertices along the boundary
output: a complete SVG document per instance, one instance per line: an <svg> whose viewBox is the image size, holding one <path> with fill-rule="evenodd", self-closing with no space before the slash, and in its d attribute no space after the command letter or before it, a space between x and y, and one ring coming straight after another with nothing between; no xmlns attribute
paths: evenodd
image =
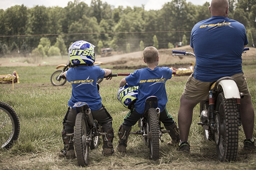
<svg viewBox="0 0 256 170"><path fill-rule="evenodd" d="M114 139L114 129L111 128L106 132L105 135L102 135L102 141L103 141L103 145L102 145L102 154L104 155L112 155L115 150L113 148L113 139Z"/></svg>

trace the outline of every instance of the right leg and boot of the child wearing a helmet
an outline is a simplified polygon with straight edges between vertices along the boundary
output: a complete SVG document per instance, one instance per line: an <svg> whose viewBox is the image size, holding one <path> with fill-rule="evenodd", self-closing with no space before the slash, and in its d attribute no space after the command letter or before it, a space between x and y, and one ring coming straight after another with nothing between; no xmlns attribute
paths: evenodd
<svg viewBox="0 0 256 170"><path fill-rule="evenodd" d="M97 111L92 111L92 116L94 119L98 121L98 123L102 126L103 132L106 135L102 136L102 154L111 155L114 153L113 147L113 139L114 139L114 129L112 128L112 117L107 112L106 108L102 105L102 107Z"/></svg>

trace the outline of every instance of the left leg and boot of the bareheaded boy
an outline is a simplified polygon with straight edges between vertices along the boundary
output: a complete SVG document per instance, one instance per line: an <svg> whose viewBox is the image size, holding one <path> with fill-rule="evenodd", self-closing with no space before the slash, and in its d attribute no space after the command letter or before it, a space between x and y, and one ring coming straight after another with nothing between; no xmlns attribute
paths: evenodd
<svg viewBox="0 0 256 170"><path fill-rule="evenodd" d="M127 141L132 126L142 117L143 114L138 113L135 109L130 110L124 118L123 123L119 127L118 135L119 141L117 145L117 151L126 152Z"/></svg>

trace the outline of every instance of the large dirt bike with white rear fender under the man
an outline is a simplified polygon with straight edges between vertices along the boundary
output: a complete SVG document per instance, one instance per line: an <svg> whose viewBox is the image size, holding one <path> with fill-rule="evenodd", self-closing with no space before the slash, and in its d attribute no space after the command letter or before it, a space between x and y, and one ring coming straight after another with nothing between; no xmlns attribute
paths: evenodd
<svg viewBox="0 0 256 170"><path fill-rule="evenodd" d="M244 48L244 52L249 48ZM172 51L172 56L195 54ZM218 160L235 161L238 152L238 129L241 126L240 98L236 80L223 77L210 87L209 99L200 102L200 121L206 140L215 141Z"/></svg>

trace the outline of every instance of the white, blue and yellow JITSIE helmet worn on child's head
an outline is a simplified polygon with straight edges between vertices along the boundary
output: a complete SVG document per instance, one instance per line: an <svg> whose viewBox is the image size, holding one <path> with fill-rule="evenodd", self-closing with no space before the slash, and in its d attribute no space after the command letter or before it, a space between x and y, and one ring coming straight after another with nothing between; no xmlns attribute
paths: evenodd
<svg viewBox="0 0 256 170"><path fill-rule="evenodd" d="M94 45L87 41L76 41L68 49L71 65L93 64L95 62Z"/></svg>

